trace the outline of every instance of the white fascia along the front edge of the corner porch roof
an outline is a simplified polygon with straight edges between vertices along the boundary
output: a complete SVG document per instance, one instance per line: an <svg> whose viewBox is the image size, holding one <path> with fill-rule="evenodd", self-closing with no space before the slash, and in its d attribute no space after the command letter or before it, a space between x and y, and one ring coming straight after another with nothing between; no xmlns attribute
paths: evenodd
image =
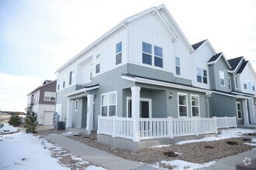
<svg viewBox="0 0 256 170"><path fill-rule="evenodd" d="M167 83L167 82L162 82L159 80L149 80L149 79L140 78L140 77L133 78L133 77L129 77L129 76L122 76L122 78L124 80L130 80L130 81L137 82L137 83L148 83L148 84L153 84L153 85L157 85L157 86L161 86L161 87L173 87L173 88L178 88L178 89L183 89L183 90L193 90L193 91L202 92L202 93L210 93L210 90L199 89L199 88L189 87L189 86L183 86L183 85L175 84L175 83Z"/></svg>

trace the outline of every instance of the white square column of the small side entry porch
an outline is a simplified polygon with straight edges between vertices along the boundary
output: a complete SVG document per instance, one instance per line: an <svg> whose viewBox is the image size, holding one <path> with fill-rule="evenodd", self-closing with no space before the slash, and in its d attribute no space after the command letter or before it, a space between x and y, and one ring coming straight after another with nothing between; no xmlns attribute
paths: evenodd
<svg viewBox="0 0 256 170"><path fill-rule="evenodd" d="M93 99L94 95L87 95L87 122L86 122L86 131L88 134L91 134L93 129Z"/></svg>

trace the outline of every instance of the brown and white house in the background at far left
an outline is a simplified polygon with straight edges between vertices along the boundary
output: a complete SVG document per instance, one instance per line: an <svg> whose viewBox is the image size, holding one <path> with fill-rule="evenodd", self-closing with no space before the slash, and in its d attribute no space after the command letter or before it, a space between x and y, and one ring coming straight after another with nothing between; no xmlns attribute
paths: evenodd
<svg viewBox="0 0 256 170"><path fill-rule="evenodd" d="M31 91L26 110L37 114L38 124L53 125L57 80L44 80L43 85Z"/></svg>

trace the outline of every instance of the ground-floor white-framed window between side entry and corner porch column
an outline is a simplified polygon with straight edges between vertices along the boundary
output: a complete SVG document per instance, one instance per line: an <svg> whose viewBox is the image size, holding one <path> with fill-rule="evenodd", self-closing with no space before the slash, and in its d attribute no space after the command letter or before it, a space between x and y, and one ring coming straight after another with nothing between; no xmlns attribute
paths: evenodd
<svg viewBox="0 0 256 170"><path fill-rule="evenodd" d="M102 116L116 116L116 91L102 94Z"/></svg>

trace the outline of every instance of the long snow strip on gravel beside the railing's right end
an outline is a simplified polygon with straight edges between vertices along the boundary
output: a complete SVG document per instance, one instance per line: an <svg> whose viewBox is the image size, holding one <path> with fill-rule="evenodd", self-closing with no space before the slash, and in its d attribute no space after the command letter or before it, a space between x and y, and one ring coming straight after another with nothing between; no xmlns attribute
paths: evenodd
<svg viewBox="0 0 256 170"><path fill-rule="evenodd" d="M189 141L180 141L177 145L189 144L200 141L218 141L221 139L227 138L240 138L242 134L255 133L256 131L253 129L240 129L240 128L232 128L232 129L224 129L221 131L221 134L218 134L217 137L206 137L202 139L195 139Z"/></svg>

